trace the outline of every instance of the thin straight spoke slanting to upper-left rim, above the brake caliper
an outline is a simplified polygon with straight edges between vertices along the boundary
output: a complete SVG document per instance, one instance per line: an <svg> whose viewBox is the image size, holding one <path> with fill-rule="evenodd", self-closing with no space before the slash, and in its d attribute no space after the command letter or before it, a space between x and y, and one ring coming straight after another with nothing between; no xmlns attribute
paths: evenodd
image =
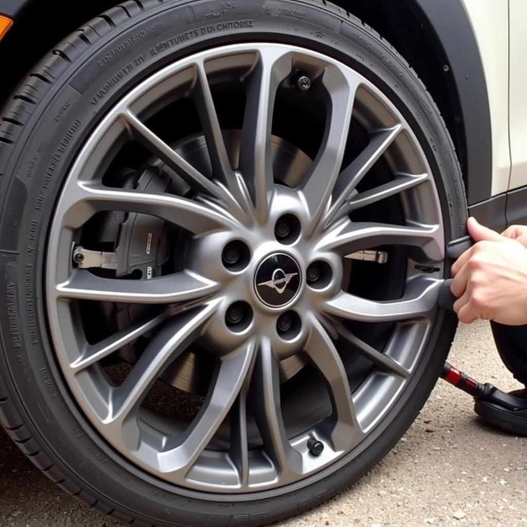
<svg viewBox="0 0 527 527"><path fill-rule="evenodd" d="M129 126L132 137L140 141L145 148L157 155L162 161L177 172L194 190L203 192L226 204L233 201L225 189L205 177L199 170L194 168L180 154L173 150L148 126L143 124L131 111L123 112L121 115Z"/></svg>

